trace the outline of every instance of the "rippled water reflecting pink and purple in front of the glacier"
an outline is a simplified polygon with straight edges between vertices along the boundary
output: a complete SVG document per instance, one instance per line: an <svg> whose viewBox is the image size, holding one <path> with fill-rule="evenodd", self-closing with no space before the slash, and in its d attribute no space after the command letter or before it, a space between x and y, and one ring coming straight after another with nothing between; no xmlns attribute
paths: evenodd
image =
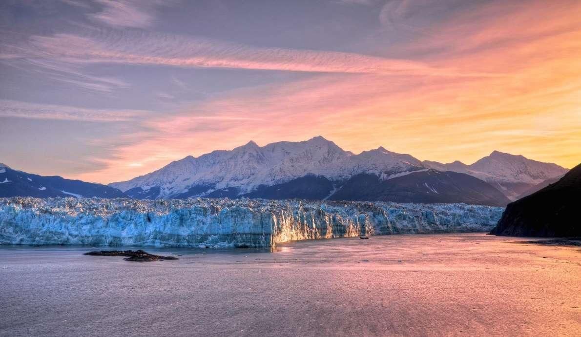
<svg viewBox="0 0 581 337"><path fill-rule="evenodd" d="M291 242L277 251L0 248L1 336L575 336L581 249L485 234Z"/></svg>

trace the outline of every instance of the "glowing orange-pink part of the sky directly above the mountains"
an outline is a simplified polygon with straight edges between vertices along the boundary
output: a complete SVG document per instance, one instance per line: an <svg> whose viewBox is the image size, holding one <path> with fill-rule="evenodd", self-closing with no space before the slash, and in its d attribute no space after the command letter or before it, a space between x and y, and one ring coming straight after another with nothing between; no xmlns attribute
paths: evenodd
<svg viewBox="0 0 581 337"><path fill-rule="evenodd" d="M356 153L383 146L471 163L499 150L571 168L581 162L580 8L537 2L493 17L469 13L405 46L446 47L426 64L449 75L328 74L229 92L148 121L155 135L117 149L109 169L80 177L127 179L250 139L315 135Z"/></svg>

